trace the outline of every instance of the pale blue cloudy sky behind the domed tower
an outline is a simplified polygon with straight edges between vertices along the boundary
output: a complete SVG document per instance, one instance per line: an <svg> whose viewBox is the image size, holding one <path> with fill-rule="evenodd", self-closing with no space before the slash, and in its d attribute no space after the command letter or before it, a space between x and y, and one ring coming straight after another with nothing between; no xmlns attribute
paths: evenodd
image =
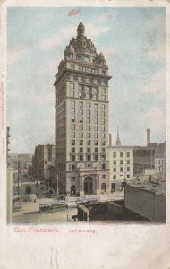
<svg viewBox="0 0 170 269"><path fill-rule="evenodd" d="M76 8L76 7L75 7ZM78 7L79 8L79 7ZM55 144L55 74L82 20L85 35L106 57L109 132L123 145L166 140L166 13L163 7L8 7L7 125L11 152Z"/></svg>

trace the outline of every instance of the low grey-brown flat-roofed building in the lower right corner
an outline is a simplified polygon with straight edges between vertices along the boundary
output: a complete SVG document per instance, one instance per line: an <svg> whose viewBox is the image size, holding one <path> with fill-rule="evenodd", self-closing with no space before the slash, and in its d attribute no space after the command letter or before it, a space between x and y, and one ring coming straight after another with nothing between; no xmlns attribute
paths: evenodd
<svg viewBox="0 0 170 269"><path fill-rule="evenodd" d="M125 207L150 221L166 221L166 182L154 179L127 182L124 188Z"/></svg>

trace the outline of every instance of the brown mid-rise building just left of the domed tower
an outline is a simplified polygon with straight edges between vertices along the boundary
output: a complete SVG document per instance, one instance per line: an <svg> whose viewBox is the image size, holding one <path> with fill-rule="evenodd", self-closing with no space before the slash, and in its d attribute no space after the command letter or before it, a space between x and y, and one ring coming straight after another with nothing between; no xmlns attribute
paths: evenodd
<svg viewBox="0 0 170 269"><path fill-rule="evenodd" d="M55 145L39 144L36 146L33 166L35 179L51 186L55 180Z"/></svg>

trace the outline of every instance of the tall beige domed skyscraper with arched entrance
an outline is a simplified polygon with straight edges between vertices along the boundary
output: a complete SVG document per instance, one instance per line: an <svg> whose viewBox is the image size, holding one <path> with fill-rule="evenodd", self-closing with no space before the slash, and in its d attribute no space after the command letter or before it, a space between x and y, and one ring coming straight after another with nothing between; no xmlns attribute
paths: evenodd
<svg viewBox="0 0 170 269"><path fill-rule="evenodd" d="M80 22L56 74L56 173L59 193L108 188L108 67Z"/></svg>

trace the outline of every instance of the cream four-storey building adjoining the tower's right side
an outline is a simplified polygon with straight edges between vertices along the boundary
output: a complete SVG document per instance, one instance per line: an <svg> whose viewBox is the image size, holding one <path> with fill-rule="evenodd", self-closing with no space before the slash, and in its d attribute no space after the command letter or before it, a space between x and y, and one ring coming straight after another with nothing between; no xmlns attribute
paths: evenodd
<svg viewBox="0 0 170 269"><path fill-rule="evenodd" d="M121 190L124 180L128 181L133 178L133 147L109 146L107 152L110 191Z"/></svg>

